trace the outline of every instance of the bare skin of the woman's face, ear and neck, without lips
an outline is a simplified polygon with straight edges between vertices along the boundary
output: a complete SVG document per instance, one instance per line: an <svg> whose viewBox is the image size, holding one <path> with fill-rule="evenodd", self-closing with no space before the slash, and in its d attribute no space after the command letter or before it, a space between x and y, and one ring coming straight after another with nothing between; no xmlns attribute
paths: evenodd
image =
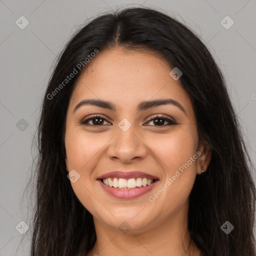
<svg viewBox="0 0 256 256"><path fill-rule="evenodd" d="M66 116L65 161L68 171L75 169L80 174L71 185L93 215L97 240L88 256L200 255L193 242L188 246L188 196L196 175L207 169L211 154L198 141L191 99L179 80L169 75L170 70L153 53L116 47L90 60L73 90ZM173 104L136 109L141 101L168 98L178 101L185 112ZM110 101L116 111L81 105L73 112L83 99ZM92 114L105 120L79 123ZM152 120L156 114L177 124L162 120L157 125ZM123 118L131 124L126 131L118 126ZM200 152L197 159L166 188L168 178L196 151ZM159 181L137 198L115 198L102 189L97 177L120 169L143 171ZM153 197L164 184L164 192ZM119 229L123 221L129 225L127 232Z"/></svg>

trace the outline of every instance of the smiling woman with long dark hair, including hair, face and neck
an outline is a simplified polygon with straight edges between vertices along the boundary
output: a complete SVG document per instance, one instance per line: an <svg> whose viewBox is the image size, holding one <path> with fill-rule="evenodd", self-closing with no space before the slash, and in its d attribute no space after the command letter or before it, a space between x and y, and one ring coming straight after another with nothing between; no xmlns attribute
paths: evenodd
<svg viewBox="0 0 256 256"><path fill-rule="evenodd" d="M251 255L256 191L224 78L159 11L67 43L38 126L31 255Z"/></svg>

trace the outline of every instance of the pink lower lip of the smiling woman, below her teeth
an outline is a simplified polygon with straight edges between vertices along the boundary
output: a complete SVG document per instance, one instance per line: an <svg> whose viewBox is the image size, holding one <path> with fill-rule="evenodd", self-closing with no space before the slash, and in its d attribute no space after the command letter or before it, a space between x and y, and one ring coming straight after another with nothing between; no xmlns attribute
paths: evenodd
<svg viewBox="0 0 256 256"><path fill-rule="evenodd" d="M140 186L138 188L134 189L117 189L114 187L110 187L105 185L100 179L98 179L98 182L102 186L102 188L110 195L118 198L118 199L133 199L137 198L147 192L149 192L154 185L158 182L159 180L155 180L153 183L147 186Z"/></svg>

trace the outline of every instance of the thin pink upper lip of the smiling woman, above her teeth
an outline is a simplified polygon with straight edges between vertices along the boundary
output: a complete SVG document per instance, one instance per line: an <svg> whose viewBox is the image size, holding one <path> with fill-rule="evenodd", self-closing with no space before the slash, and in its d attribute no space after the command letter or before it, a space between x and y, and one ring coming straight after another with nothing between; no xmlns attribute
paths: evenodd
<svg viewBox="0 0 256 256"><path fill-rule="evenodd" d="M158 179L155 176L152 176L148 173L142 172L142 171L120 171L120 170L116 170L116 171L110 171L107 173L102 174L101 176L97 177L98 179L100 178L125 178L125 179L129 179L129 178L151 178L151 179Z"/></svg>

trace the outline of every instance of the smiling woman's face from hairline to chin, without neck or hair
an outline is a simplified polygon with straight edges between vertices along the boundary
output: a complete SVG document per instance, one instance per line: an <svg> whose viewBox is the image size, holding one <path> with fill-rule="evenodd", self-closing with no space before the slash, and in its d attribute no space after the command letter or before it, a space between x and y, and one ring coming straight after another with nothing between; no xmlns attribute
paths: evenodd
<svg viewBox="0 0 256 256"><path fill-rule="evenodd" d="M101 226L145 231L187 214L195 176L207 166L192 102L170 71L158 56L114 48L90 60L73 90L65 160L76 196ZM88 99L114 110L79 104ZM163 99L174 103L141 103Z"/></svg>

